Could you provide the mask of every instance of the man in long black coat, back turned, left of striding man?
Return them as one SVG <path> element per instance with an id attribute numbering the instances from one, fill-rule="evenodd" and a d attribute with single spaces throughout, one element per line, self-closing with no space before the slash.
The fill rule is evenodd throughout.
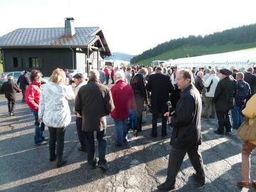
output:
<path id="1" fill-rule="evenodd" d="M 171 85 L 169 75 L 162 73 L 162 68 L 158 67 L 156 73 L 149 76 L 149 82 L 146 84 L 146 90 L 151 92 L 151 113 L 152 113 L 152 131 L 151 136 L 157 137 L 157 118 L 158 114 L 161 113 L 162 117 L 162 128 L 161 136 L 165 137 L 167 117 L 164 117 L 164 113 L 168 111 L 166 102 L 169 101 L 169 93 L 174 90 L 174 86 Z"/>

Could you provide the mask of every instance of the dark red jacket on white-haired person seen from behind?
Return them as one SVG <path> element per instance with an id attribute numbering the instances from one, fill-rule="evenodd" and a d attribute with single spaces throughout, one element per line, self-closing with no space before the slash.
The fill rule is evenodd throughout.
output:
<path id="1" fill-rule="evenodd" d="M 113 119 L 128 119 L 129 110 L 136 110 L 132 87 L 124 80 L 118 80 L 111 88 L 114 101 L 114 110 L 111 112 Z"/>

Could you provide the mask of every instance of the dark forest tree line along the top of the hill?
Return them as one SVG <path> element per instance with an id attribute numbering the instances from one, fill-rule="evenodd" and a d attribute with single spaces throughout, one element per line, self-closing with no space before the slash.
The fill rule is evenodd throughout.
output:
<path id="1" fill-rule="evenodd" d="M 134 56 L 130 63 L 136 63 L 140 60 L 153 58 L 161 55 L 169 50 L 175 50 L 181 46 L 211 46 L 211 45 L 225 45 L 228 43 L 241 44 L 253 43 L 256 41 L 256 23 L 248 26 L 240 26 L 238 28 L 231 28 L 222 32 L 215 32 L 206 36 L 188 36 L 187 38 L 177 38 L 158 46 L 145 50 L 142 54 Z M 193 55 L 198 56 L 198 55 Z"/>

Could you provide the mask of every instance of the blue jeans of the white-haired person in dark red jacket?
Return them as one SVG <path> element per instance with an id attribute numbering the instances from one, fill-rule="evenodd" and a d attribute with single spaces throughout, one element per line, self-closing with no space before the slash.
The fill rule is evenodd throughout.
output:
<path id="1" fill-rule="evenodd" d="M 127 119 L 114 119 L 114 138 L 117 145 L 127 142 Z"/>

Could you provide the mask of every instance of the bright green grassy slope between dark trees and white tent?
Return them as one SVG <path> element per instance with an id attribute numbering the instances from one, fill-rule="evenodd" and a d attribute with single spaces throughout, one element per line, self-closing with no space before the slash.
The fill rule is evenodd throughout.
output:
<path id="1" fill-rule="evenodd" d="M 199 56 L 199 55 L 210 55 L 215 53 L 225 53 L 234 50 L 243 50 L 248 48 L 255 48 L 255 43 L 245 43 L 245 44 L 226 44 L 223 46 L 182 46 L 181 48 L 177 48 L 175 50 L 169 50 L 161 55 L 157 55 L 154 58 L 149 58 L 145 60 L 141 60 L 137 63 L 137 65 L 151 65 L 152 60 L 169 60 L 176 58 L 185 58 L 186 55 Z"/>

